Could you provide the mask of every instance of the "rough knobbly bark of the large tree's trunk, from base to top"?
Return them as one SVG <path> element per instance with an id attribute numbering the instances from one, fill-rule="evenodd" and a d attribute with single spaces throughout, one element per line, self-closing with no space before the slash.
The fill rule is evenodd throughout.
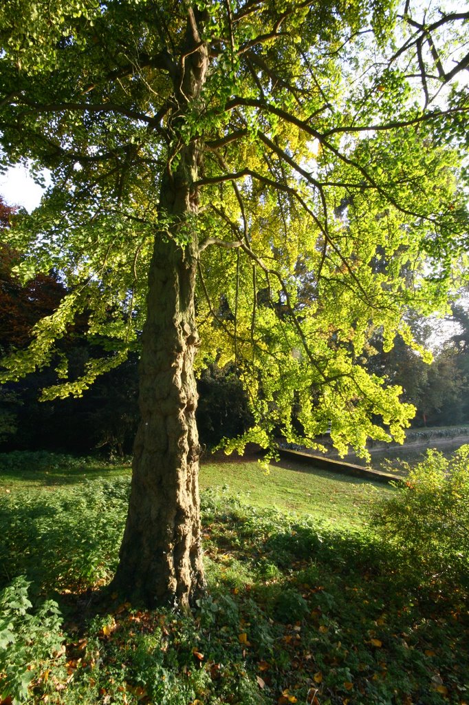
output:
<path id="1" fill-rule="evenodd" d="M 174 72 L 173 125 L 204 85 L 208 54 L 189 11 L 180 67 Z M 199 441 L 193 363 L 196 233 L 193 187 L 201 150 L 194 139 L 177 146 L 162 180 L 160 210 L 170 226 L 156 233 L 142 336 L 139 407 L 127 524 L 113 588 L 146 605 L 188 608 L 204 589 L 199 517 Z M 184 229 L 184 231 L 182 231 Z M 190 235 L 187 245 L 181 235 Z"/>

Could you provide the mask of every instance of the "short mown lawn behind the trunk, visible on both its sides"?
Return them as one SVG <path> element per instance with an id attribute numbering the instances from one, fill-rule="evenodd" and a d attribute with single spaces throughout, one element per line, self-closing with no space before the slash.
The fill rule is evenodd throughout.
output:
<path id="1" fill-rule="evenodd" d="M 52 453 L 0 455 L 0 492 L 40 487 L 73 486 L 99 477 L 130 476 L 129 463 L 96 458 L 71 458 Z M 226 496 L 259 508 L 277 508 L 309 514 L 329 522 L 360 525 L 373 495 L 392 491 L 389 486 L 347 477 L 327 470 L 308 470 L 299 463 L 270 465 L 265 474 L 258 462 L 213 462 L 201 465 L 201 489 L 215 489 Z"/>

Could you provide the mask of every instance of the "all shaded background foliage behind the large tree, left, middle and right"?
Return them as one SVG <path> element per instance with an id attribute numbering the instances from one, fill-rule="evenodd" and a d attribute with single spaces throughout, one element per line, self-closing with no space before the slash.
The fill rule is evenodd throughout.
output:
<path id="1" fill-rule="evenodd" d="M 5 244 L 15 210 L 0 197 L 4 245 L 0 254 L 0 347 L 22 348 L 30 341 L 30 329 L 44 314 L 51 314 L 66 293 L 57 272 L 39 275 L 22 285 L 13 267 L 21 257 Z M 403 389 L 401 397 L 416 408 L 412 425 L 454 425 L 469 422 L 469 326 L 467 313 L 454 305 L 453 321 L 459 327 L 432 363 L 408 348 L 401 336 L 387 353 L 382 336 L 375 335 L 370 354 L 370 372 L 387 378 Z M 432 334 L 425 319 L 411 319 L 415 338 L 428 344 Z M 85 321 L 70 326 L 56 353 L 65 355 L 69 374 L 77 379 L 90 357 L 102 355 L 101 338 L 87 335 Z M 39 449 L 89 453 L 94 449 L 111 455 L 130 453 L 138 421 L 136 355 L 101 376 L 80 398 L 39 402 L 41 390 L 57 384 L 54 362 L 44 370 L 18 382 L 4 384 L 0 391 L 0 442 L 4 450 Z M 58 359 L 56 360 L 58 364 Z M 232 365 L 222 370 L 211 364 L 200 372 L 197 424 L 201 444 L 213 447 L 224 437 L 233 439 L 249 427 L 248 399 Z"/>

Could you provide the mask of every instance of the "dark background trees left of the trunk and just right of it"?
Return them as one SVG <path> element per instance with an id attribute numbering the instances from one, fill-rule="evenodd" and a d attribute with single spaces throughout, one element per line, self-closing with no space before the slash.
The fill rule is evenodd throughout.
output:
<path id="1" fill-rule="evenodd" d="M 16 209 L 0 197 L 0 347 L 3 353 L 27 347 L 31 329 L 56 311 L 66 289 L 56 272 L 38 274 L 22 283 L 15 275 L 21 256 L 6 244 Z M 89 453 L 96 448 L 111 455 L 132 450 L 138 421 L 137 353 L 108 374 L 100 376 L 80 398 L 38 401 L 43 388 L 58 383 L 54 367 L 63 366 L 77 379 L 92 357 L 103 356 L 106 341 L 86 335 L 86 317 L 69 326 L 56 345 L 56 359 L 26 379 L 0 389 L 0 448 L 3 450 L 60 450 Z M 62 355 L 62 358 L 58 357 Z M 235 370 L 216 365 L 201 373 L 197 383 L 201 403 L 197 410 L 203 446 L 215 446 L 223 437 L 233 438 L 249 427 L 246 396 Z"/>

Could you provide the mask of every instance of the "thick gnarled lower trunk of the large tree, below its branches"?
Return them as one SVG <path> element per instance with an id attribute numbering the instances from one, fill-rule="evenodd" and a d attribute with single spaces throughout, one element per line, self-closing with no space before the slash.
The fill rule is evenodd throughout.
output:
<path id="1" fill-rule="evenodd" d="M 193 372 L 195 274 L 189 248 L 156 239 L 140 363 L 141 422 L 114 583 L 149 606 L 187 608 L 204 586 Z"/>

